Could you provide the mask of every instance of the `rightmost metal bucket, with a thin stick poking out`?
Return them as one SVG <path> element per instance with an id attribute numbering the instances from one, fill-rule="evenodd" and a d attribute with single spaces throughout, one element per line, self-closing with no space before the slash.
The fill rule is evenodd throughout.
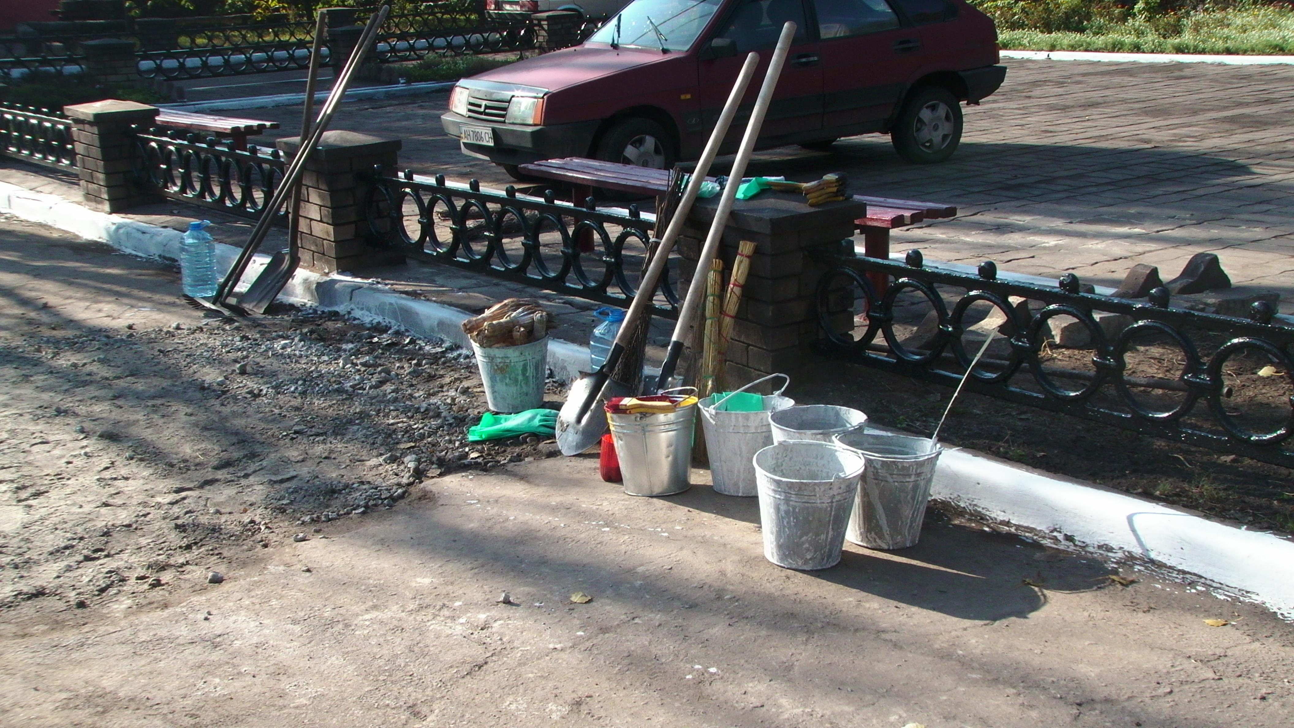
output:
<path id="1" fill-rule="evenodd" d="M 929 438 L 862 430 L 836 435 L 836 443 L 867 461 L 846 538 L 867 548 L 916 545 L 943 448 Z"/>

